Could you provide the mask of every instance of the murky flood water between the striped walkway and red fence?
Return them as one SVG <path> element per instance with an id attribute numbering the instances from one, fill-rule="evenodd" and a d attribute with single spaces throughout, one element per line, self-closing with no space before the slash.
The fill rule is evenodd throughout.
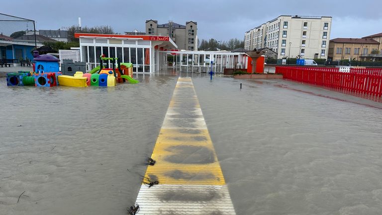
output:
<path id="1" fill-rule="evenodd" d="M 381 104 L 283 80 L 193 83 L 238 215 L 381 214 Z"/>

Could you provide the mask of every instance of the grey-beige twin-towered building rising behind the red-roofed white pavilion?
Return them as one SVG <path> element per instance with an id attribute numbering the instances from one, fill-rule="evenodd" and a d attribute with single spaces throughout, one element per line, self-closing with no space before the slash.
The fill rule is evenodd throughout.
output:
<path id="1" fill-rule="evenodd" d="M 197 23 L 186 22 L 186 25 L 169 21 L 158 24 L 157 20 L 146 20 L 146 35 L 170 36 L 178 49 L 197 51 Z"/>

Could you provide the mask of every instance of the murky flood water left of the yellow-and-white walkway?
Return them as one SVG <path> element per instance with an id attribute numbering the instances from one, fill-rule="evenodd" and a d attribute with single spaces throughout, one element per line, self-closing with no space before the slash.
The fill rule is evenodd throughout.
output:
<path id="1" fill-rule="evenodd" d="M 0 79 L 0 214 L 125 215 L 177 81 L 137 79 L 115 88 Z"/>

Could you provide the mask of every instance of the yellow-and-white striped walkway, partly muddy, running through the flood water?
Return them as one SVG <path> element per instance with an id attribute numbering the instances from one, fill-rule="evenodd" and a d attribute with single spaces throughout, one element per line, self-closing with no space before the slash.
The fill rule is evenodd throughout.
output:
<path id="1" fill-rule="evenodd" d="M 179 78 L 137 197 L 139 215 L 235 215 L 191 78 Z"/>

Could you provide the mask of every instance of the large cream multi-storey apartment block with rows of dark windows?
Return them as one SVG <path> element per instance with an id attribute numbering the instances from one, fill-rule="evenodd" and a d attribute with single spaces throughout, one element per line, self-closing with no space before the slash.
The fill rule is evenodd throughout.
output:
<path id="1" fill-rule="evenodd" d="M 332 17 L 281 15 L 244 35 L 244 48 L 269 48 L 278 58 L 327 59 Z"/>

